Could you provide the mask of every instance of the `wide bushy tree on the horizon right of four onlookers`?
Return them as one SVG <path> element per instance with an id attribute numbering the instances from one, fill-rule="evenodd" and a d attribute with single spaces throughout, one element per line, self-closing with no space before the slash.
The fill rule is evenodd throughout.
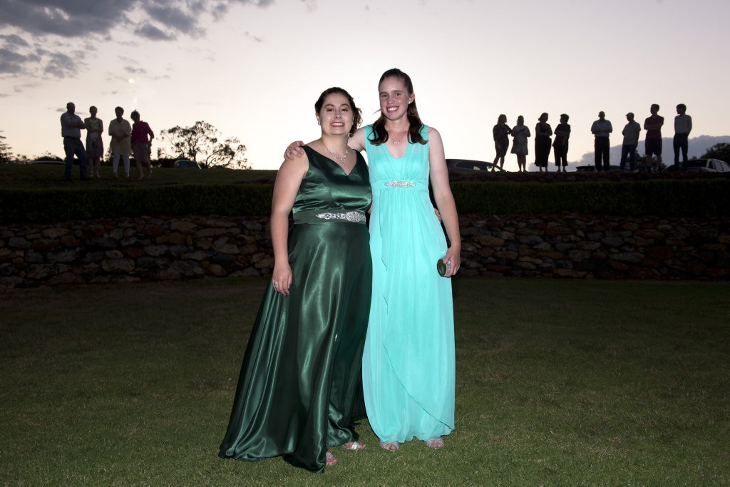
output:
<path id="1" fill-rule="evenodd" d="M 245 158 L 246 146 L 236 137 L 220 139 L 220 131 L 210 123 L 199 121 L 191 127 L 174 126 L 163 130 L 161 139 L 172 146 L 172 156 L 196 161 L 202 167 L 250 169 Z M 162 156 L 167 153 L 164 148 Z"/>

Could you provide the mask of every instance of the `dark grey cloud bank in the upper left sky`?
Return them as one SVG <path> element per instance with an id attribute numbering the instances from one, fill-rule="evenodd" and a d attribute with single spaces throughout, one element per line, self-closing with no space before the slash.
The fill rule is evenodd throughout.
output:
<path id="1" fill-rule="evenodd" d="M 307 0 L 313 1 L 313 0 Z M 67 77 L 84 66 L 59 39 L 108 42 L 117 29 L 140 39 L 170 42 L 204 37 L 203 22 L 231 7 L 269 7 L 274 0 L 0 0 L 0 74 Z M 8 32 L 11 32 L 8 34 Z M 257 39 L 258 40 L 258 39 Z M 96 47 L 87 47 L 96 50 Z M 74 53 L 74 57 L 77 53 Z"/>

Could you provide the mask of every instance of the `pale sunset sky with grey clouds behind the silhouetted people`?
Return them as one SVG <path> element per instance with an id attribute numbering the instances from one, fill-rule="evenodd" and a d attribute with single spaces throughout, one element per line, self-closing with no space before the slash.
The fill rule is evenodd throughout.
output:
<path id="1" fill-rule="evenodd" d="M 572 165 L 592 157 L 601 110 L 612 145 L 626 112 L 642 122 L 652 103 L 665 137 L 677 103 L 692 137 L 730 134 L 728 0 L 0 0 L 0 12 L 0 131 L 28 157 L 63 156 L 58 118 L 74 101 L 106 126 L 117 105 L 155 132 L 204 120 L 275 169 L 288 142 L 319 136 L 326 88 L 372 122 L 391 67 L 411 75 L 450 158 L 491 161 L 500 113 L 531 130 L 541 112 L 553 129 L 569 114 Z"/>

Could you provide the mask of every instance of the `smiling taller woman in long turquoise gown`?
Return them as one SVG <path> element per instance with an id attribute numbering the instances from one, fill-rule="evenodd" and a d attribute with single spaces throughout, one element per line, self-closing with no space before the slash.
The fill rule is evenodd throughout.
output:
<path id="1" fill-rule="evenodd" d="M 383 448 L 396 450 L 413 437 L 442 448 L 442 436 L 454 429 L 453 301 L 445 277 L 461 265 L 458 215 L 441 137 L 421 123 L 410 77 L 391 69 L 378 90 L 380 118 L 350 142 L 364 143 L 373 196 L 365 405 Z M 439 259 L 447 266 L 445 277 L 437 272 Z"/>

